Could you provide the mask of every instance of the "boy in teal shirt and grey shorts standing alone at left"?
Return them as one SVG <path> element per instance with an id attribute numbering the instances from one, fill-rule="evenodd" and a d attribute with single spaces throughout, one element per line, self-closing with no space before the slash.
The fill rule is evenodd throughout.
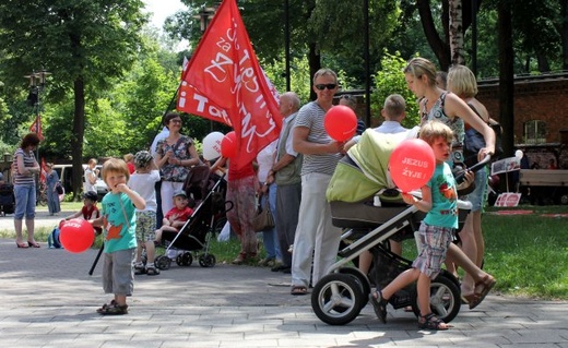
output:
<path id="1" fill-rule="evenodd" d="M 126 161 L 110 158 L 103 165 L 103 180 L 109 192 L 103 197 L 102 216 L 91 220 L 104 228 L 103 289 L 114 293 L 109 303 L 97 309 L 103 315 L 128 314 L 127 296 L 132 295 L 134 275 L 132 259 L 137 248 L 135 208 L 144 209 L 146 203 L 127 182 L 130 171 Z"/>

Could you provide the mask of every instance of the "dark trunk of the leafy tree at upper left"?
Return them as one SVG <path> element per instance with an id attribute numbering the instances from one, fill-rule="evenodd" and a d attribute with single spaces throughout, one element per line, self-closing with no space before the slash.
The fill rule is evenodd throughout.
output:
<path id="1" fill-rule="evenodd" d="M 82 76 L 73 82 L 75 109 L 73 112 L 73 196 L 79 199 L 83 190 L 83 136 L 85 135 L 85 83 Z"/>

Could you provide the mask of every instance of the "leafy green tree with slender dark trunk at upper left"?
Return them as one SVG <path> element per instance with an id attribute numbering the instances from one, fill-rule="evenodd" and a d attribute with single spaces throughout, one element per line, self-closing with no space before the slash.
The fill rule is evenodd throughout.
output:
<path id="1" fill-rule="evenodd" d="M 109 86 L 132 63 L 146 22 L 141 0 L 36 0 L 0 2 L 0 72 L 3 81 L 24 88 L 22 77 L 36 69 L 54 73 L 49 97 L 73 93 L 70 139 L 75 195 L 88 94 Z M 19 81 L 20 80 L 20 81 Z"/>

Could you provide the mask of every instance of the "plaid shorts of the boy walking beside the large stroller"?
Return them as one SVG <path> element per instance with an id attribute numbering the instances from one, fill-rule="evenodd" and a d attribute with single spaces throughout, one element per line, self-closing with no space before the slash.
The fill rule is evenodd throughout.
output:
<path id="1" fill-rule="evenodd" d="M 417 238 L 418 256 L 412 263 L 412 267 L 434 279 L 446 261 L 446 253 L 453 239 L 453 228 L 431 226 L 423 221 Z"/>

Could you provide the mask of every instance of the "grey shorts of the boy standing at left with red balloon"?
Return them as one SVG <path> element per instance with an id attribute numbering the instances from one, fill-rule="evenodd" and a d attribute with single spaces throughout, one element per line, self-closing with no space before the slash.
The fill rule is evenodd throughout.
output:
<path id="1" fill-rule="evenodd" d="M 105 253 L 103 263 L 103 289 L 105 293 L 132 296 L 134 272 L 132 259 L 134 248 Z"/>

